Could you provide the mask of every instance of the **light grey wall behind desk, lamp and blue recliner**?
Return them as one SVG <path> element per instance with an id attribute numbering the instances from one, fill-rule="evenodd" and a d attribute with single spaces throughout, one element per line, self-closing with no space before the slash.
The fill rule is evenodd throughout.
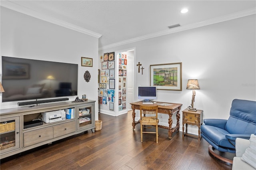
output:
<path id="1" fill-rule="evenodd" d="M 194 107 L 204 110 L 203 119 L 228 119 L 233 99 L 256 101 L 255 21 L 256 15 L 246 16 L 104 49 L 99 56 L 136 47 L 134 70 L 138 69 L 138 62 L 145 69 L 143 75 L 135 71 L 135 88 L 150 85 L 151 64 L 182 62 L 182 91 L 158 90 L 157 101 L 182 103 L 182 110 L 186 109 L 192 99 L 192 90 L 186 89 L 187 81 L 198 79 L 200 90 L 196 90 Z M 138 101 L 136 96 L 137 89 L 134 100 Z M 168 115 L 163 118 L 160 124 L 167 125 Z M 188 132 L 197 134 L 197 130 L 189 126 Z"/>

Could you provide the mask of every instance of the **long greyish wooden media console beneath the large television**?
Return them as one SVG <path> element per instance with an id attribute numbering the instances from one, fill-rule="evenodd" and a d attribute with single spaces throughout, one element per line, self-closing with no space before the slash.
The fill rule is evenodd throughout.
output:
<path id="1" fill-rule="evenodd" d="M 70 109 L 74 116 L 70 119 L 43 122 L 35 127 L 24 125 L 42 113 Z M 48 122 L 48 121 L 46 121 Z M 0 158 L 6 158 L 53 141 L 92 130 L 95 128 L 95 101 L 61 102 L 0 110 Z"/>

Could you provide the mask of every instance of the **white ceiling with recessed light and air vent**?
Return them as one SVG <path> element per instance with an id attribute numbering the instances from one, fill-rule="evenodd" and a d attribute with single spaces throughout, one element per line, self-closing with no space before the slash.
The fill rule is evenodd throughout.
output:
<path id="1" fill-rule="evenodd" d="M 100 37 L 99 48 L 170 34 L 174 24 L 181 25 L 177 32 L 256 11 L 255 0 L 1 0 L 1 6 L 91 31 Z"/>

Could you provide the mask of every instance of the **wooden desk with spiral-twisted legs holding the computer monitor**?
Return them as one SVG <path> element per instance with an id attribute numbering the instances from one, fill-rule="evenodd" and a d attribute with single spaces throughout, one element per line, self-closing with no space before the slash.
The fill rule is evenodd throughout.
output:
<path id="1" fill-rule="evenodd" d="M 157 103 L 166 103 L 166 102 L 157 102 Z M 150 104 L 150 105 L 157 105 L 157 103 L 155 104 Z M 169 119 L 168 119 L 168 123 L 169 123 L 169 127 L 166 126 L 162 126 L 162 125 L 158 125 L 158 127 L 160 128 L 165 128 L 168 129 L 168 138 L 172 138 L 172 133 L 175 132 L 176 130 L 179 131 L 180 129 L 180 109 L 182 104 L 178 104 L 178 103 L 170 103 L 171 105 L 169 106 L 161 106 L 158 105 L 158 113 L 164 113 L 169 115 Z M 142 101 L 138 101 L 138 102 L 134 102 L 134 103 L 130 103 L 130 105 L 132 105 L 132 129 L 135 128 L 135 125 L 137 125 L 138 123 L 140 123 L 139 121 L 135 122 L 135 110 L 140 110 L 140 105 L 142 105 Z M 149 105 L 149 104 L 145 104 L 145 105 Z M 174 113 L 177 112 L 176 118 L 177 118 L 177 124 L 176 127 L 172 128 L 172 115 Z"/>

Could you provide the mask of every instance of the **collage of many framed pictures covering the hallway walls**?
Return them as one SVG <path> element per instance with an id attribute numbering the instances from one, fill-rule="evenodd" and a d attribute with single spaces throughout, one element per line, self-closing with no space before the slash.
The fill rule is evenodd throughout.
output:
<path id="1" fill-rule="evenodd" d="M 126 65 L 127 55 L 118 53 L 118 68 L 115 68 L 115 53 L 104 53 L 100 57 L 100 83 L 98 91 L 98 103 L 109 105 L 109 110 L 114 111 L 115 86 L 118 83 L 118 110 L 126 109 Z M 115 71 L 118 70 L 118 79 Z M 118 81 L 118 82 L 116 82 Z"/>

